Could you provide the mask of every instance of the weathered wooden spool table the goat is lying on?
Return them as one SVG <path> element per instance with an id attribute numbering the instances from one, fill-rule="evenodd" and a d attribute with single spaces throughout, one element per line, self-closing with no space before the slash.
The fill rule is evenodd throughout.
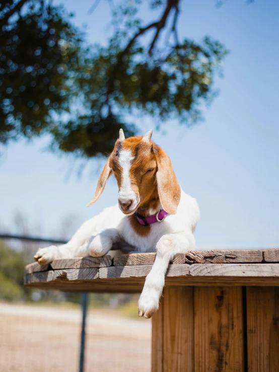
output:
<path id="1" fill-rule="evenodd" d="M 26 266 L 25 285 L 141 292 L 155 253 Z M 279 372 L 279 249 L 190 251 L 169 265 L 152 318 L 152 372 Z"/>

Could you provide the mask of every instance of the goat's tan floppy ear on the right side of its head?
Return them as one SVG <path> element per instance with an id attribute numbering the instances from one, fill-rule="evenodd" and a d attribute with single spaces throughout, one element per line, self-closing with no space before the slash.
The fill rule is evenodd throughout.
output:
<path id="1" fill-rule="evenodd" d="M 158 171 L 156 174 L 160 202 L 163 209 L 175 214 L 180 201 L 181 189 L 168 155 L 158 147 L 156 151 Z"/>

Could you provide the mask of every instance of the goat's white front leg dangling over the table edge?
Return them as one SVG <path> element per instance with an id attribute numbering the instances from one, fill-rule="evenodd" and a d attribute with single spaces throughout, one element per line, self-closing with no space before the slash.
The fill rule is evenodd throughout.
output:
<path id="1" fill-rule="evenodd" d="M 178 252 L 194 249 L 192 233 L 164 235 L 157 243 L 156 258 L 146 277 L 144 289 L 138 300 L 138 316 L 151 318 L 159 308 L 159 300 L 165 285 L 165 274 L 170 260 Z"/>

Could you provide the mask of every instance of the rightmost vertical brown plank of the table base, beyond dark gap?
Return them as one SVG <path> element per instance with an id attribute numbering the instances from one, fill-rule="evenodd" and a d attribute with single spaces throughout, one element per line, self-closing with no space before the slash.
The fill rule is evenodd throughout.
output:
<path id="1" fill-rule="evenodd" d="M 279 288 L 247 287 L 249 372 L 279 371 Z"/>

